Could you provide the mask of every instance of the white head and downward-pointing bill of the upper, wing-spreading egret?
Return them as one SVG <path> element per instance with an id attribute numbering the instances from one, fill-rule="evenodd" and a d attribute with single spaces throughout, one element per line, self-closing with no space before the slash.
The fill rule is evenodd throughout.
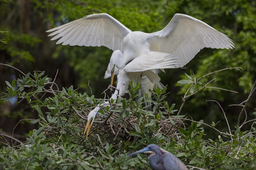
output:
<path id="1" fill-rule="evenodd" d="M 118 71 L 116 72 L 116 70 L 123 69 L 125 66 L 125 63 L 123 61 L 123 54 L 120 50 L 116 50 L 112 53 L 109 65 L 111 70 L 111 86 L 112 86 L 114 75 L 117 74 L 118 72 Z"/>

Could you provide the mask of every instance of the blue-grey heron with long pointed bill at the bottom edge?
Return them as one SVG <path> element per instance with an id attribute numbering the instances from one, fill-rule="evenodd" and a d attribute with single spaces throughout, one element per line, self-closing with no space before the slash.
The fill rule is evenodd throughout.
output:
<path id="1" fill-rule="evenodd" d="M 148 164 L 152 170 L 188 170 L 179 158 L 155 144 L 149 144 L 144 149 L 130 153 L 128 156 L 138 153 L 152 153 L 148 156 Z"/>

